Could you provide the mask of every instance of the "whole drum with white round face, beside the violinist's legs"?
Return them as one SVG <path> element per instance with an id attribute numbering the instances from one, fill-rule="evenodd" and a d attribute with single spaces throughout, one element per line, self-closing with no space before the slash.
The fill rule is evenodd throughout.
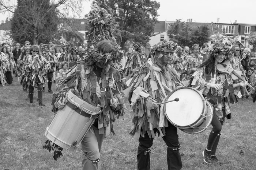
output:
<path id="1" fill-rule="evenodd" d="M 175 127 L 189 134 L 198 134 L 206 130 L 212 120 L 211 104 L 203 95 L 191 87 L 174 90 L 166 101 L 178 98 L 178 102 L 165 103 L 165 116 Z"/>

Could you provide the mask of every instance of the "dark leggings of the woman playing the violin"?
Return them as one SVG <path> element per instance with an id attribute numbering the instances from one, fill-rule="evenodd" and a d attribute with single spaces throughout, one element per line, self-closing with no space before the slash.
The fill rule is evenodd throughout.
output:
<path id="1" fill-rule="evenodd" d="M 219 143 L 221 129 L 224 123 L 225 115 L 226 115 L 224 108 L 222 109 L 222 112 L 223 112 L 224 118 L 221 118 L 221 119 L 218 118 L 215 111 L 213 112 L 213 117 L 211 121 L 212 130 L 208 137 L 208 143 L 207 143 L 207 149 L 211 150 L 211 155 L 215 155 L 215 152 Z"/>

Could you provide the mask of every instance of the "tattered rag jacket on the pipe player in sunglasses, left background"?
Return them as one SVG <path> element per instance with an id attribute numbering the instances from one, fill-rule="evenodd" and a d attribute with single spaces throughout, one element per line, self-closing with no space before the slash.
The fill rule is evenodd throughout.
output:
<path id="1" fill-rule="evenodd" d="M 25 59 L 25 63 L 24 63 L 24 67 L 25 67 L 25 71 L 24 71 L 24 80 L 23 82 L 27 82 L 28 85 L 33 86 L 33 87 L 37 87 L 37 83 L 42 83 L 45 84 L 45 70 L 46 70 L 46 66 L 47 66 L 47 61 L 39 56 L 39 59 L 41 60 L 43 67 L 40 66 L 40 64 L 38 62 L 34 62 L 34 64 L 29 67 L 29 65 L 32 63 L 33 61 L 33 56 L 28 55 Z"/>

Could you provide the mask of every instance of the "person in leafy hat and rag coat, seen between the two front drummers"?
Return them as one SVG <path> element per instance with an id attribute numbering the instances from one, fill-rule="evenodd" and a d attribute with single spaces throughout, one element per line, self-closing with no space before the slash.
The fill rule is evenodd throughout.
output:
<path id="1" fill-rule="evenodd" d="M 133 43 L 133 47 L 135 48 L 135 51 L 131 57 L 127 58 L 127 63 L 124 68 L 124 75 L 127 76 L 127 79 L 133 76 L 133 69 L 138 68 L 147 62 L 147 56 L 142 51 L 141 44 Z"/>

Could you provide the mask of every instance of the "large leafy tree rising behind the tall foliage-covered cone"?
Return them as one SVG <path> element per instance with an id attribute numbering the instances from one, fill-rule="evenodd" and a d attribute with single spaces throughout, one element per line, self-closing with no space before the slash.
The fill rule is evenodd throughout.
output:
<path id="1" fill-rule="evenodd" d="M 151 0 L 94 0 L 99 7 L 113 13 L 118 23 L 113 30 L 121 47 L 127 40 L 146 44 L 153 35 L 160 4 Z"/>

